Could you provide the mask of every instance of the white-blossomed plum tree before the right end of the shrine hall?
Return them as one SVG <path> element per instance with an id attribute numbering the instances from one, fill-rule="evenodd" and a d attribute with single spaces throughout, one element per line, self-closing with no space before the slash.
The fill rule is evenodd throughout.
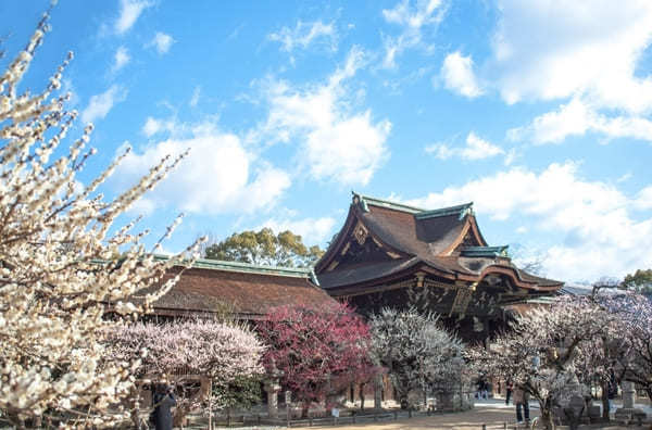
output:
<path id="1" fill-rule="evenodd" d="M 479 372 L 511 380 L 537 400 L 542 422 L 550 429 L 553 408 L 569 400 L 568 385 L 577 385 L 581 393 L 580 379 L 610 375 L 602 350 L 589 349 L 610 336 L 617 319 L 590 298 L 561 296 L 552 306 L 517 316 L 509 332 L 488 349 L 468 350 L 467 357 Z"/>

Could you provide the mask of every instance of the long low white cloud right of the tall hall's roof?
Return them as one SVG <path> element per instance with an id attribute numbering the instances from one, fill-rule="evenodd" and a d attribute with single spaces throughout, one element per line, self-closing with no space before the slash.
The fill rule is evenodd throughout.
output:
<path id="1" fill-rule="evenodd" d="M 565 235 L 546 250 L 549 276 L 595 280 L 652 265 L 652 254 L 642 251 L 652 246 L 652 217 L 629 216 L 631 207 L 647 207 L 649 192 L 627 198 L 610 184 L 582 179 L 577 164 L 567 162 L 539 174 L 512 168 L 409 203 L 441 207 L 474 201 L 478 214 L 493 219 L 531 217 L 536 232 Z"/>

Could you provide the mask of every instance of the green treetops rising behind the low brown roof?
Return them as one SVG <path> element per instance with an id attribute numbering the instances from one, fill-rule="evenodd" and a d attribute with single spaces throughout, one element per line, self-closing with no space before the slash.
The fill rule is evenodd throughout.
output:
<path id="1" fill-rule="evenodd" d="M 274 235 L 271 228 L 233 233 L 205 249 L 204 258 L 266 266 L 310 267 L 324 251 L 305 246 L 301 236 L 286 230 Z"/>

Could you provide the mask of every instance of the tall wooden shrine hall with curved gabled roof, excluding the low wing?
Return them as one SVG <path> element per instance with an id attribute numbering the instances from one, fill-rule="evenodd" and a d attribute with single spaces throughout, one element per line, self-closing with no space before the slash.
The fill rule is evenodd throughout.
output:
<path id="1" fill-rule="evenodd" d="M 314 269 L 322 289 L 362 314 L 415 306 L 440 314 L 465 341 L 485 340 L 516 304 L 563 286 L 516 267 L 506 248 L 487 244 L 473 203 L 426 211 L 353 193 Z"/>

